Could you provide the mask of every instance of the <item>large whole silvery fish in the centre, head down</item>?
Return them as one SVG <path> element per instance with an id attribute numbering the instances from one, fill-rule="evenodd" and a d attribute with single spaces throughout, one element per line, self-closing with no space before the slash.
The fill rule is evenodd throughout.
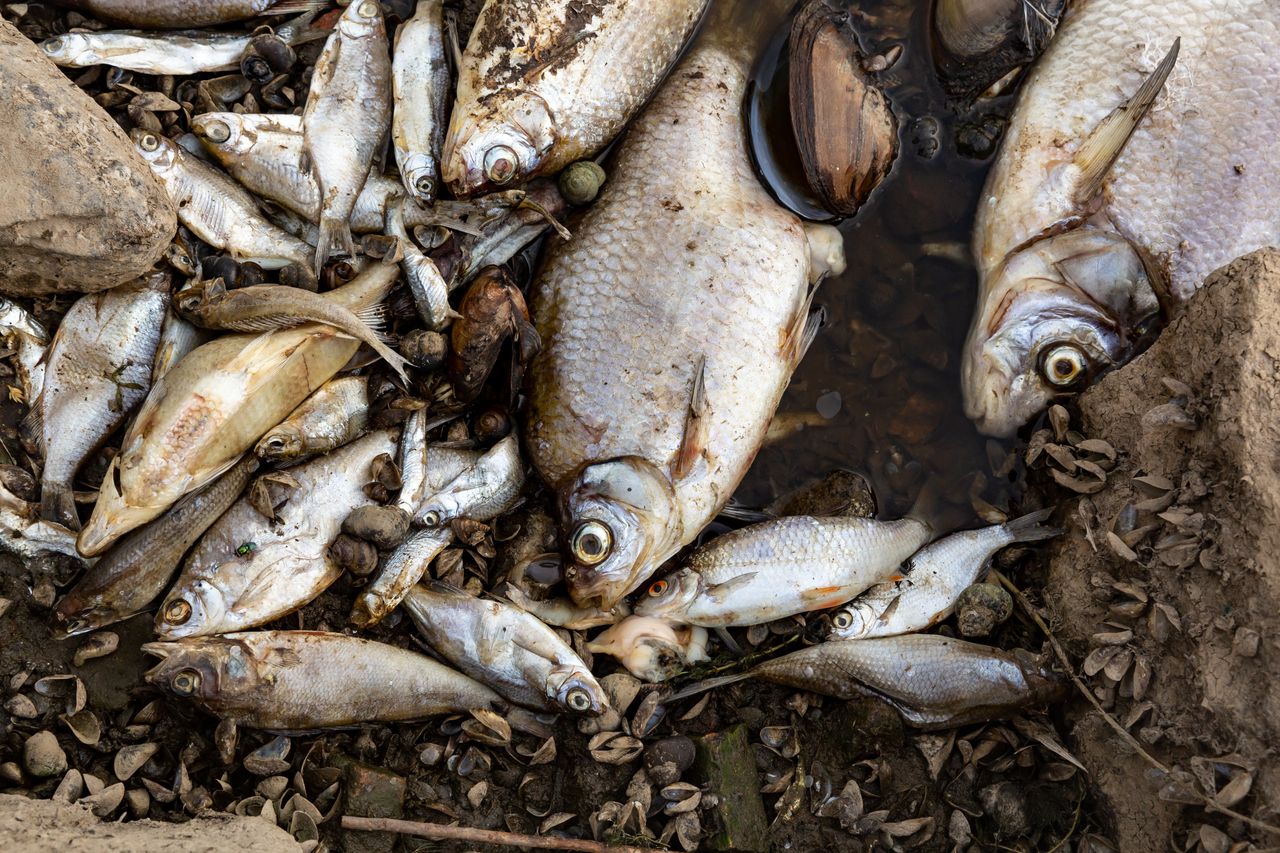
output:
<path id="1" fill-rule="evenodd" d="M 764 37 L 788 6 L 713 10 L 535 284 L 526 444 L 559 492 L 579 603 L 612 607 L 730 500 L 817 329 L 810 284 L 844 268 L 827 225 L 812 260 L 746 151 L 759 42 L 744 32 Z"/>

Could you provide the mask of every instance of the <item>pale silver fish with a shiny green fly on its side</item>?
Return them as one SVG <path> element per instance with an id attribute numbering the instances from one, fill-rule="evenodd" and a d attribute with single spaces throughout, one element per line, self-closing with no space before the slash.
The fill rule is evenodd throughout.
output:
<path id="1" fill-rule="evenodd" d="M 323 593 L 342 574 L 329 543 L 342 521 L 372 501 L 369 466 L 396 448 L 378 430 L 289 469 L 297 483 L 275 519 L 246 496 L 196 544 L 156 613 L 164 639 L 206 637 L 264 625 Z"/>

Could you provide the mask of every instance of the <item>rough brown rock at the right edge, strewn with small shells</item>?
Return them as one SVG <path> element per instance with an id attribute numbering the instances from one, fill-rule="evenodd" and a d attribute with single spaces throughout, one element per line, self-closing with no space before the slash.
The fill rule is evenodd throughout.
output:
<path id="1" fill-rule="evenodd" d="M 1178 383 L 1190 388 L 1185 401 Z M 1112 580 L 1142 587 L 1151 605 L 1132 617 L 1129 647 L 1151 662 L 1144 701 L 1153 708 L 1132 730 L 1183 770 L 1193 758 L 1235 753 L 1231 761 L 1256 774 L 1235 808 L 1274 822 L 1265 816 L 1280 813 L 1280 251 L 1254 252 L 1211 275 L 1155 346 L 1084 393 L 1079 409 L 1082 432 L 1120 456 L 1102 492 L 1066 506 L 1071 529 L 1051 546 L 1052 624 L 1084 654 L 1092 634 L 1116 630 L 1103 622 L 1125 619 L 1128 597 L 1111 597 Z M 1152 488 L 1158 479 L 1144 485 L 1139 475 L 1166 478 L 1175 493 L 1169 510 L 1147 503 L 1121 526 L 1156 525 L 1130 561 L 1108 547 L 1106 530 L 1128 505 L 1162 497 Z M 1094 510 L 1097 547 L 1080 520 Z M 1114 605 L 1121 610 L 1108 612 Z M 1172 607 L 1180 629 L 1170 628 L 1167 611 L 1153 613 L 1156 605 Z M 1125 684 L 1120 720 L 1140 710 Z M 1092 712 L 1071 745 L 1114 817 L 1120 849 L 1166 847 L 1179 807 L 1158 798 L 1164 781 Z M 1233 767 L 1224 765 L 1219 785 Z M 1187 818 L 1204 812 L 1188 807 Z"/>

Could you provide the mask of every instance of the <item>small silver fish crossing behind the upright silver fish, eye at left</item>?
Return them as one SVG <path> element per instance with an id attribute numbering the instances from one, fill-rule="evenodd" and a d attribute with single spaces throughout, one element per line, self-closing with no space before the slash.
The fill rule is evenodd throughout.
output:
<path id="1" fill-rule="evenodd" d="M 320 222 L 320 184 L 302 168 L 302 118 L 289 114 L 205 113 L 191 120 L 191 132 L 237 181 L 310 223 Z M 376 168 L 369 172 L 351 211 L 357 234 L 380 233 L 387 211 L 402 204 L 404 188 Z M 417 205 L 403 206 L 407 223 L 431 216 Z"/>

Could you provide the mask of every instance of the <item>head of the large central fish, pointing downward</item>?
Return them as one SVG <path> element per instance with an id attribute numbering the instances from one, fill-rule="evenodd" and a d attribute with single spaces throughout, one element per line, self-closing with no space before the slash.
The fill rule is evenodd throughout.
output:
<path id="1" fill-rule="evenodd" d="M 671 480 L 634 456 L 584 469 L 563 516 L 564 580 L 580 607 L 611 610 L 680 547 Z"/>

